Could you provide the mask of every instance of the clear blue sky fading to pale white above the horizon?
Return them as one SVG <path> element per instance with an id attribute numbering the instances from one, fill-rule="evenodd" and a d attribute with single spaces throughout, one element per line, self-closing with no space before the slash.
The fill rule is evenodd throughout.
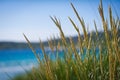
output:
<path id="1" fill-rule="evenodd" d="M 77 35 L 68 16 L 75 21 L 82 33 L 70 2 L 85 19 L 89 31 L 94 30 L 93 20 L 96 20 L 98 29 L 102 30 L 98 13 L 99 0 L 0 0 L 0 41 L 24 42 L 23 33 L 32 42 L 38 42 L 39 39 L 44 41 L 53 35 L 58 36 L 59 30 L 50 16 L 60 19 L 66 36 Z M 113 15 L 117 12 L 120 16 L 120 0 L 103 0 L 105 16 L 108 17 L 109 4 L 113 8 Z"/>

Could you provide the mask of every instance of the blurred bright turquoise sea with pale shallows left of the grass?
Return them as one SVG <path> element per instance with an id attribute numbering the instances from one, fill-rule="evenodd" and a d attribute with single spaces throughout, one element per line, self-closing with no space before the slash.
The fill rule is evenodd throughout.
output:
<path id="1" fill-rule="evenodd" d="M 41 49 L 36 49 L 40 59 L 43 59 Z M 55 59 L 56 52 L 46 49 L 46 53 L 51 59 Z M 59 56 L 63 57 L 63 51 L 59 51 Z M 38 66 L 38 61 L 31 49 L 3 49 L 0 50 L 0 80 L 11 80 L 16 75 L 23 74 Z"/>

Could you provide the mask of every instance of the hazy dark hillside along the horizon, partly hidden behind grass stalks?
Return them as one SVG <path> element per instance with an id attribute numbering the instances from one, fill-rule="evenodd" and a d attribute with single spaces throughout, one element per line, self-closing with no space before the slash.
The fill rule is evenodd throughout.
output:
<path id="1" fill-rule="evenodd" d="M 109 31 L 109 35 L 110 34 L 110 31 Z M 90 33 L 88 34 L 88 36 L 90 36 Z M 92 39 L 93 41 L 96 41 L 94 40 L 95 39 L 95 36 L 96 36 L 96 33 L 93 32 L 93 36 L 92 36 Z M 105 40 L 104 38 L 104 33 L 103 32 L 98 32 L 98 36 L 101 40 Z M 83 38 L 83 35 L 81 35 L 81 37 Z M 118 31 L 118 37 L 120 37 L 120 29 Z M 75 44 L 77 44 L 78 42 L 78 36 L 73 36 L 73 41 Z M 66 38 L 67 42 L 69 42 L 69 38 L 67 37 Z M 56 43 L 58 43 L 60 41 L 60 39 L 55 39 L 55 40 L 52 40 L 52 41 L 55 41 Z M 48 42 L 45 41 L 43 42 L 44 46 L 48 46 Z M 33 47 L 34 48 L 39 48 L 39 43 L 32 43 Z M 23 48 L 29 48 L 28 44 L 27 43 L 16 43 L 16 42 L 0 42 L 0 49 L 23 49 Z"/>

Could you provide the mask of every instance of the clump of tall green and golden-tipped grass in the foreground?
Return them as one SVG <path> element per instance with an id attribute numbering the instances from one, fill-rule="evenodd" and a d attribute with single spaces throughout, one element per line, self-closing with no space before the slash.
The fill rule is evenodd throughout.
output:
<path id="1" fill-rule="evenodd" d="M 56 56 L 55 60 L 51 60 L 46 54 L 44 45 L 40 41 L 40 48 L 44 55 L 44 59 L 36 54 L 30 41 L 24 35 L 30 48 L 35 54 L 39 62 L 39 67 L 32 69 L 25 76 L 15 77 L 14 80 L 119 80 L 120 79 L 120 38 L 119 27 L 120 20 L 112 16 L 111 7 L 109 7 L 109 22 L 104 17 L 102 0 L 99 5 L 99 14 L 101 16 L 102 26 L 104 29 L 105 39 L 101 39 L 98 35 L 97 25 L 94 21 L 96 35 L 93 33 L 88 35 L 84 20 L 79 16 L 77 10 L 71 4 L 73 11 L 80 22 L 84 37 L 81 37 L 80 30 L 69 17 L 70 22 L 78 33 L 78 47 L 76 47 L 72 37 L 66 41 L 62 31 L 60 21 L 56 17 L 51 17 L 52 21 L 60 31 L 61 41 L 56 43 L 55 39 L 48 40 L 51 51 L 56 51 L 53 55 L 59 55 L 59 50 L 63 49 L 64 58 Z M 110 23 L 110 25 L 109 25 Z M 110 30 L 108 27 L 110 26 Z M 96 49 L 98 48 L 98 56 Z M 78 52 L 79 50 L 79 52 Z M 80 53 L 80 54 L 79 54 Z M 84 58 L 82 58 L 84 56 Z"/>

